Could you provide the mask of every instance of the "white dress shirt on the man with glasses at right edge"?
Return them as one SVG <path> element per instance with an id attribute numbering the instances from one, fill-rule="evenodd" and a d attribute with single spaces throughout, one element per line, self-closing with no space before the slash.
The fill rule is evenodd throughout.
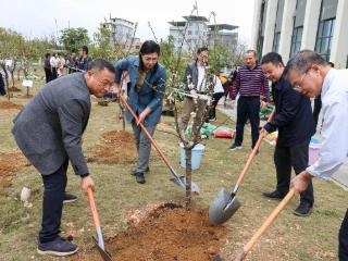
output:
<path id="1" fill-rule="evenodd" d="M 323 144 L 318 161 L 307 171 L 326 179 L 348 156 L 348 70 L 331 69 L 326 74 L 322 88 L 322 110 Z"/>

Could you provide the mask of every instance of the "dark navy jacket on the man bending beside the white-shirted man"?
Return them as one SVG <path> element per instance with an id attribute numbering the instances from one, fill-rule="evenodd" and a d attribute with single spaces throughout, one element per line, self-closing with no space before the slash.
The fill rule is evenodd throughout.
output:
<path id="1" fill-rule="evenodd" d="M 294 90 L 283 77 L 274 86 L 275 116 L 264 125 L 268 133 L 278 129 L 278 145 L 291 147 L 310 140 L 315 133 L 311 101 Z"/>

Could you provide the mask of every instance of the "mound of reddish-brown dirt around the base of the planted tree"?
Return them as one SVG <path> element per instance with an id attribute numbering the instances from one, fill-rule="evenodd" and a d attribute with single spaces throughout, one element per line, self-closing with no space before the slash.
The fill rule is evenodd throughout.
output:
<path id="1" fill-rule="evenodd" d="M 219 253 L 226 234 L 226 227 L 210 224 L 208 210 L 187 211 L 166 203 L 107 240 L 105 248 L 115 261 L 210 261 Z M 100 257 L 95 251 L 73 260 L 97 261 Z"/>

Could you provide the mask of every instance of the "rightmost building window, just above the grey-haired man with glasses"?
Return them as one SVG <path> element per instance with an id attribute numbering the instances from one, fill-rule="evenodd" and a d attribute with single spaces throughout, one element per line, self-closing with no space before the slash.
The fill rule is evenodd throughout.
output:
<path id="1" fill-rule="evenodd" d="M 335 18 L 321 21 L 318 28 L 315 52 L 321 54 L 326 61 L 330 60 L 334 28 Z"/>

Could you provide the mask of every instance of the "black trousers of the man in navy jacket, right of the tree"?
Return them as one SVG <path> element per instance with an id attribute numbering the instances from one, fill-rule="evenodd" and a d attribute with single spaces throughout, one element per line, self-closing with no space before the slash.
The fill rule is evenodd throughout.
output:
<path id="1" fill-rule="evenodd" d="M 285 147 L 276 145 L 274 151 L 274 164 L 276 169 L 276 190 L 286 195 L 289 191 L 291 167 L 294 167 L 296 175 L 301 173 L 308 166 L 308 147 L 310 140 Z M 301 192 L 301 202 L 308 202 L 311 206 L 314 203 L 313 184 L 309 184 L 308 188 Z"/>

